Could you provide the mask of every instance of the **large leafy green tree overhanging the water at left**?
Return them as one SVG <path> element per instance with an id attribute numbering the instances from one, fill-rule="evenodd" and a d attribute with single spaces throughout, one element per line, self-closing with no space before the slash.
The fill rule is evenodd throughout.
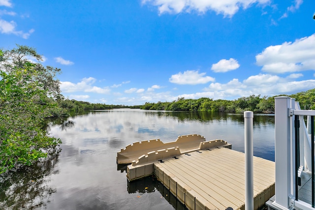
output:
<path id="1" fill-rule="evenodd" d="M 63 113 L 53 98 L 60 92 L 59 81 L 53 79 L 58 70 L 31 63 L 26 55 L 41 59 L 26 46 L 2 53 L 0 174 L 19 165 L 31 165 L 61 143 L 41 129 L 44 118 Z"/>

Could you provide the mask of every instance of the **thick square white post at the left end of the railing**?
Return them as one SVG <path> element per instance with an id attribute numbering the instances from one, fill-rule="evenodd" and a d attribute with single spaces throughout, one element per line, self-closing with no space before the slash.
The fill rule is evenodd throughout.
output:
<path id="1" fill-rule="evenodd" d="M 275 163 L 276 163 L 276 206 L 289 208 L 291 190 L 291 100 L 287 96 L 275 97 Z"/>

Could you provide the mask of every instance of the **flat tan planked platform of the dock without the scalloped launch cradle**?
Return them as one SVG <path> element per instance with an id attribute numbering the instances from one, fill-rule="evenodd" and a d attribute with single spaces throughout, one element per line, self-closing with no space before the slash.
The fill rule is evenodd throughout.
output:
<path id="1" fill-rule="evenodd" d="M 253 165 L 257 210 L 275 193 L 275 163 L 254 157 Z M 189 209 L 245 209 L 244 153 L 227 148 L 192 152 L 154 163 L 154 173 Z"/>

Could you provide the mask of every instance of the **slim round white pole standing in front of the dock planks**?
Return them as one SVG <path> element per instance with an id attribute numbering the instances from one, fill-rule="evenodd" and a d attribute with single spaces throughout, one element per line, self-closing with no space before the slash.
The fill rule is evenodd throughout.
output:
<path id="1" fill-rule="evenodd" d="M 252 145 L 252 127 L 253 127 L 253 112 L 244 112 L 245 125 L 245 209 L 254 209 L 253 195 L 253 145 Z"/>

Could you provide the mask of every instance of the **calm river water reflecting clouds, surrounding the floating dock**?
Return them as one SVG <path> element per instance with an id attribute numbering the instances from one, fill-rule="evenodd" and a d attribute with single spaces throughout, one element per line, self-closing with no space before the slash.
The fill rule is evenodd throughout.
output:
<path id="1" fill-rule="evenodd" d="M 244 152 L 242 114 L 114 109 L 51 123 L 49 132 L 62 139 L 61 152 L 0 177 L 0 209 L 184 210 L 154 177 L 128 183 L 117 152 L 135 141 L 192 133 Z M 254 156 L 274 161 L 273 115 L 254 116 L 253 146 Z"/>

